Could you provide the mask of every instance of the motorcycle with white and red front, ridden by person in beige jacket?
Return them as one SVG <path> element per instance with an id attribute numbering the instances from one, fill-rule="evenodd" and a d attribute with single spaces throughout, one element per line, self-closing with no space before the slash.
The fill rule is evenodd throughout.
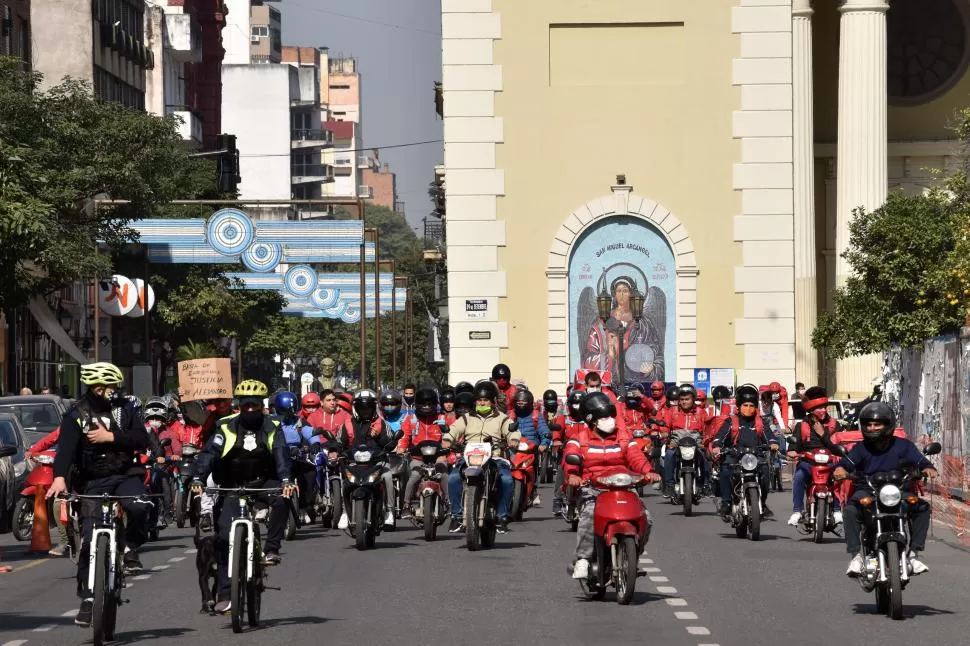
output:
<path id="1" fill-rule="evenodd" d="M 499 473 L 488 442 L 469 442 L 464 451 L 465 543 L 472 552 L 495 544 L 498 532 Z"/>

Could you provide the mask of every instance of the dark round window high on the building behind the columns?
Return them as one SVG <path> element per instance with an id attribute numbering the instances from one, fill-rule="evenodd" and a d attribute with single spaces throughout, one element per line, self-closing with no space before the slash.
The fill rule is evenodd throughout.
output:
<path id="1" fill-rule="evenodd" d="M 891 103 L 926 103 L 963 77 L 970 62 L 964 0 L 893 0 L 886 20 Z"/>

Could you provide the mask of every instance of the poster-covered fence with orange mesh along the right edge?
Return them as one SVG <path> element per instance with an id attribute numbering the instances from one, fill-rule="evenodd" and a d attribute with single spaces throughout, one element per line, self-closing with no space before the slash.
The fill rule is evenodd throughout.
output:
<path id="1" fill-rule="evenodd" d="M 940 472 L 928 488 L 933 536 L 970 548 L 970 328 L 886 352 L 883 382 L 910 439 L 943 445 L 930 458 Z"/>

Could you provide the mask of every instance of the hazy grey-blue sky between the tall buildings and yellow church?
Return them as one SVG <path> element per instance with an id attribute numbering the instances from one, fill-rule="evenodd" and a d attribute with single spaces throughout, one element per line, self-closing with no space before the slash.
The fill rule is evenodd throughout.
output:
<path id="1" fill-rule="evenodd" d="M 280 0 L 283 44 L 329 47 L 357 59 L 363 88 L 364 147 L 440 140 L 434 83 L 441 80 L 440 0 Z M 421 227 L 441 143 L 380 151 L 397 175 L 397 199 Z M 423 235 L 423 230 L 419 233 Z"/>

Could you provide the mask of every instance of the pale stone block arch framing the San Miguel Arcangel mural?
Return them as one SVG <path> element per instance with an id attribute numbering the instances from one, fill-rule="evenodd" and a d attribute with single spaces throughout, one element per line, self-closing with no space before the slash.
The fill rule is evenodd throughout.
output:
<path id="1" fill-rule="evenodd" d="M 667 381 L 693 381 L 697 366 L 697 256 L 687 227 L 649 198 L 633 194 L 633 187 L 613 186 L 612 194 L 590 200 L 573 211 L 556 232 L 546 261 L 549 321 L 550 388 L 563 392 L 569 374 L 569 261 L 582 234 L 604 218 L 629 215 L 651 224 L 673 251 L 676 266 L 675 352 L 677 374 Z"/>

